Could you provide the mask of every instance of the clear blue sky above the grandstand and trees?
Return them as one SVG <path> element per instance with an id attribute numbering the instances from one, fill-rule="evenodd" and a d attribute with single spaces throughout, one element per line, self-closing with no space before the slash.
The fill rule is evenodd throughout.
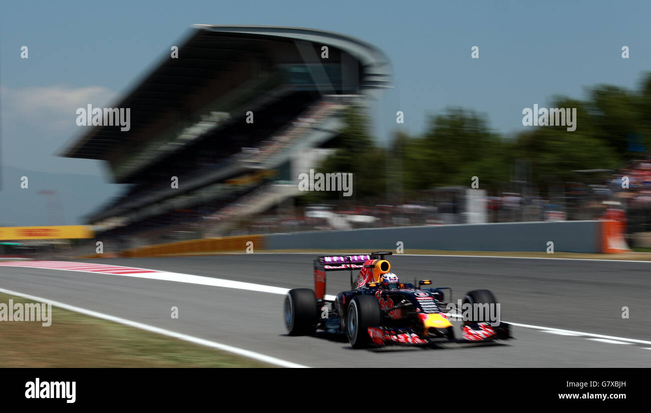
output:
<path id="1" fill-rule="evenodd" d="M 569 4 L 568 4 L 569 3 Z M 179 44 L 193 23 L 288 25 L 350 34 L 382 49 L 396 88 L 376 111 L 385 137 L 404 111 L 462 106 L 501 133 L 554 95 L 608 83 L 633 88 L 651 70 L 651 3 L 624 1 L 77 1 L 0 8 L 2 165 L 100 176 L 96 161 L 55 153 L 81 131 L 77 107 L 109 104 Z M 20 47 L 29 59 L 20 59 Z M 471 59 L 471 47 L 480 47 Z M 622 46 L 630 59 L 621 58 Z"/>

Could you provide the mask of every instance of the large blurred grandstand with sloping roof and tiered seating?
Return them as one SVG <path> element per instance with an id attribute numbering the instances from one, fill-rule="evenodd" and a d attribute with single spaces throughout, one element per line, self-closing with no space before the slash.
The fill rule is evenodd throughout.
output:
<path id="1" fill-rule="evenodd" d="M 299 168 L 337 136 L 342 111 L 391 77 L 385 55 L 350 36 L 195 25 L 178 58 L 115 104 L 131 109 L 129 131 L 85 129 L 62 155 L 105 161 L 128 184 L 87 217 L 98 236 L 131 246 L 227 235 L 230 222 L 298 196 Z"/>

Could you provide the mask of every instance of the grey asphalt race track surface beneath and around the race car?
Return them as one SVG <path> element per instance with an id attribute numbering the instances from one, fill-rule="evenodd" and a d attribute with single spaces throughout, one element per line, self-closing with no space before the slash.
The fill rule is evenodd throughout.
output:
<path id="1" fill-rule="evenodd" d="M 312 258 L 241 254 L 81 261 L 295 288 L 312 287 Z M 513 328 L 516 340 L 353 350 L 330 336 L 286 336 L 283 296 L 274 293 L 21 267 L 0 267 L 0 287 L 311 367 L 651 367 L 651 262 L 393 256 L 391 264 L 404 281 L 430 278 L 436 286 L 452 287 L 455 300 L 469 289 L 492 289 L 502 319 L 520 325 Z M 347 272 L 327 276 L 328 294 L 348 287 Z M 170 317 L 172 306 L 179 308 L 178 319 Z M 624 306 L 628 319 L 622 319 Z"/>

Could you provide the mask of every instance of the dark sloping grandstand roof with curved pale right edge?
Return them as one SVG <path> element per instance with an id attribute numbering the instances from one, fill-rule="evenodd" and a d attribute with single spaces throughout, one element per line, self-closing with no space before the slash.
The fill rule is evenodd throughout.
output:
<path id="1" fill-rule="evenodd" d="M 359 62 L 360 90 L 391 86 L 389 59 L 376 47 L 344 34 L 299 27 L 195 25 L 179 47 L 180 59 L 166 53 L 154 70 L 113 105 L 131 109 L 129 131 L 120 131 L 119 126 L 88 127 L 62 155 L 109 162 L 126 157 L 132 144 L 160 135 L 231 90 L 232 73 L 253 70 L 260 61 L 273 59 L 277 52 L 273 45 L 279 42 L 290 43 L 303 60 L 307 53 L 303 42 L 312 44 L 312 49 L 333 47 Z"/>

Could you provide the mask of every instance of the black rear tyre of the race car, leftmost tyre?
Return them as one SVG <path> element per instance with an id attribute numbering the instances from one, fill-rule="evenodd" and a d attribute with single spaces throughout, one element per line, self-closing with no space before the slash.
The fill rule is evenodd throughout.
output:
<path id="1" fill-rule="evenodd" d="M 316 331 L 319 313 L 314 291 L 290 289 L 284 299 L 284 323 L 290 336 L 310 336 Z"/>

